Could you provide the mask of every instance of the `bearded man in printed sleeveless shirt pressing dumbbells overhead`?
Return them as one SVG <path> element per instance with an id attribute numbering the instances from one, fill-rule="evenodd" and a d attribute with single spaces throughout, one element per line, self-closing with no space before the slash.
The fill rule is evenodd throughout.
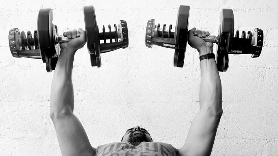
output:
<path id="1" fill-rule="evenodd" d="M 73 40 L 60 44 L 61 53 L 51 86 L 50 117 L 62 155 L 210 155 L 222 115 L 221 81 L 214 58 L 200 62 L 200 110 L 192 121 L 185 144 L 181 148 L 153 142 L 148 131 L 139 126 L 128 129 L 121 142 L 92 147 L 81 122 L 73 114 L 73 59 L 75 52 L 86 42 L 84 32 L 82 29 L 64 32 L 64 36 Z M 212 53 L 213 44 L 201 39 L 206 36 L 209 36 L 209 32 L 195 28 L 188 31 L 188 44 L 197 49 L 200 56 Z"/>

